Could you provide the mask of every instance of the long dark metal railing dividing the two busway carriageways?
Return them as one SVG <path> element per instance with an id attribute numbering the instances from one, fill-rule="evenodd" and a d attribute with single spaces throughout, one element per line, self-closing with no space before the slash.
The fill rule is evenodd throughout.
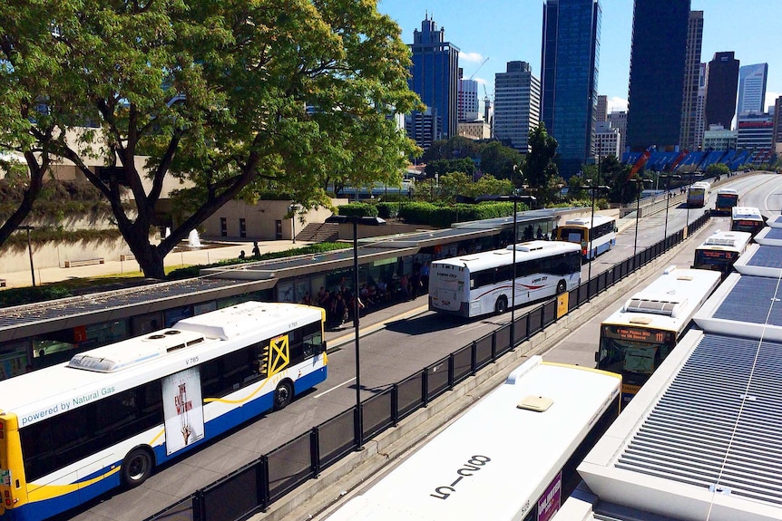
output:
<path id="1" fill-rule="evenodd" d="M 706 214 L 690 223 L 687 236 L 702 227 L 709 217 Z M 685 237 L 683 232 L 679 230 L 571 290 L 568 313 L 679 245 Z M 557 320 L 557 300 L 552 299 L 515 319 L 513 342 L 511 324 L 503 324 L 494 332 L 396 382 L 386 391 L 362 401 L 360 429 L 363 439 L 371 439 L 395 427 L 415 410 L 426 407 L 430 401 Z M 265 511 L 280 497 L 308 479 L 317 478 L 323 469 L 357 449 L 357 416 L 355 406 L 341 412 L 145 521 L 233 521 Z"/>

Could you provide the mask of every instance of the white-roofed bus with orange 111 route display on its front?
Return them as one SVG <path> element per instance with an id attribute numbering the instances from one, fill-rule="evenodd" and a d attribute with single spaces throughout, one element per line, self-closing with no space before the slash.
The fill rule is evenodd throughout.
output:
<path id="1" fill-rule="evenodd" d="M 672 265 L 602 321 L 595 362 L 598 369 L 621 374 L 622 400 L 629 401 L 649 380 L 720 281 L 716 271 Z"/>

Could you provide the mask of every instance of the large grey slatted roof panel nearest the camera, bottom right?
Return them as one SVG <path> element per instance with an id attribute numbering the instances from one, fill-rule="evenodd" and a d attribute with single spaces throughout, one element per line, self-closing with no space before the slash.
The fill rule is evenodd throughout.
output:
<path id="1" fill-rule="evenodd" d="M 780 389 L 782 344 L 707 334 L 614 467 L 782 506 Z"/>

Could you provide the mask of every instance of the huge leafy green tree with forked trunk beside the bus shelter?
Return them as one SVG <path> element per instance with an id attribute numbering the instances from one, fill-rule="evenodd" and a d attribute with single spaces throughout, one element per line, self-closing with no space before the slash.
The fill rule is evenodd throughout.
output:
<path id="1" fill-rule="evenodd" d="M 6 0 L 0 51 L 0 150 L 24 154 L 31 188 L 52 158 L 72 161 L 147 276 L 231 199 L 327 204 L 329 181 L 396 184 L 417 152 L 392 117 L 420 108 L 408 49 L 371 0 Z M 152 245 L 171 179 L 193 188 Z"/>

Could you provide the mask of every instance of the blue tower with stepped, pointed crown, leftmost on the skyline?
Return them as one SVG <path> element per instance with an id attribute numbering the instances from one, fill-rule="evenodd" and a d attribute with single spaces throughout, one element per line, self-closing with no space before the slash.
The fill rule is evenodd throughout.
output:
<path id="1" fill-rule="evenodd" d="M 445 28 L 437 30 L 435 21 L 426 15 L 421 30 L 413 32 L 410 52 L 413 65 L 408 86 L 431 109 L 432 116 L 442 121 L 436 139 L 447 140 L 456 135 L 459 48 L 445 42 Z M 415 135 L 411 138 L 415 140 Z"/>

